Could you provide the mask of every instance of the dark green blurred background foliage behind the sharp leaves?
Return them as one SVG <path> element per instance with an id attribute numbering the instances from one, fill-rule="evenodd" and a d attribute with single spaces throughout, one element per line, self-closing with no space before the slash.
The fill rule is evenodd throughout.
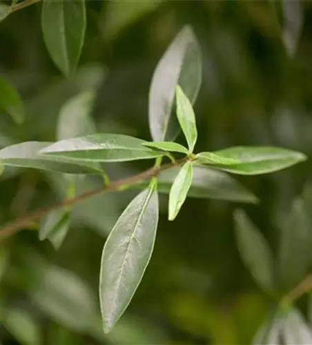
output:
<path id="1" fill-rule="evenodd" d="M 0 23 L 0 72 L 18 88 L 26 106 L 21 125 L 1 114 L 1 146 L 54 141 L 60 107 L 90 86 L 97 86 L 92 112 L 97 131 L 150 140 L 148 90 L 153 70 L 177 31 L 190 23 L 204 63 L 203 85 L 195 103 L 197 151 L 270 145 L 311 156 L 311 1 L 302 1 L 304 24 L 294 57 L 282 39 L 286 25 L 282 1 L 161 1 L 142 13 L 141 1 L 119 2 L 117 10 L 112 3 L 87 1 L 86 40 L 79 68 L 68 79 L 44 46 L 41 3 Z M 130 7 L 135 15 L 123 23 Z M 184 144 L 182 135 L 178 141 Z M 113 179 L 146 167 L 146 162 L 107 165 Z M 0 319 L 12 313 L 10 322 L 0 326 L 1 342 L 250 343 L 271 310 L 271 300 L 242 263 L 233 233 L 233 210 L 246 210 L 276 254 L 280 224 L 293 198 L 311 179 L 311 161 L 270 175 L 237 179 L 260 198 L 259 205 L 187 199 L 177 219 L 168 222 L 168 199 L 161 198 L 150 265 L 128 310 L 108 335 L 102 335 L 100 323 L 92 331 L 84 328 L 84 320 L 93 317 L 89 297 L 84 288 L 77 290 L 80 283 L 70 277 L 90 287 L 97 320 L 101 249 L 135 193 L 110 193 L 75 206 L 70 233 L 58 251 L 49 242 L 39 242 L 31 230 L 1 243 L 0 266 L 6 262 Z M 88 178 L 81 189 L 99 183 Z M 62 197 L 55 173 L 7 169 L 0 186 L 1 224 Z M 52 286 L 48 293 L 38 288 L 42 279 Z M 15 315 L 17 310 L 26 317 Z"/>

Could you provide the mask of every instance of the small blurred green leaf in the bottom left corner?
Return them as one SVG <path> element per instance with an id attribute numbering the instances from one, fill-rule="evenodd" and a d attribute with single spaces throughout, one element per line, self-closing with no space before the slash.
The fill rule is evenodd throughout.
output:
<path id="1" fill-rule="evenodd" d="M 28 311 L 19 308 L 10 308 L 6 312 L 4 324 L 21 345 L 41 344 L 39 323 Z"/>

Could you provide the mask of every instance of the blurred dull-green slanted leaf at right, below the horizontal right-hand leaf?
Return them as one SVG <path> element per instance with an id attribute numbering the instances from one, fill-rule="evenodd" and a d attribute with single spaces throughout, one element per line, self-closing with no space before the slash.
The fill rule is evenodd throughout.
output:
<path id="1" fill-rule="evenodd" d="M 244 264 L 264 290 L 274 290 L 273 255 L 266 239 L 243 210 L 235 211 L 234 220 L 237 246 Z"/>

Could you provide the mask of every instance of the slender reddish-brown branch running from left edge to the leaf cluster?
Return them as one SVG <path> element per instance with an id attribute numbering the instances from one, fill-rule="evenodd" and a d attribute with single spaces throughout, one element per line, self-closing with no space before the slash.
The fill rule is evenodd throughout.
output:
<path id="1" fill-rule="evenodd" d="M 21 217 L 19 219 L 16 219 L 5 226 L 3 226 L 0 229 L 0 242 L 15 233 L 18 233 L 19 231 L 23 230 L 23 228 L 26 228 L 30 224 L 33 223 L 33 221 L 43 217 L 47 213 L 50 213 L 53 210 L 58 210 L 59 208 L 64 208 L 66 206 L 71 206 L 73 204 L 76 204 L 77 202 L 84 201 L 88 199 L 89 197 L 94 197 L 95 195 L 99 195 L 101 193 L 106 192 L 112 192 L 117 190 L 123 190 L 127 186 L 131 186 L 133 184 L 137 184 L 139 181 L 142 181 L 144 179 L 149 179 L 150 177 L 157 176 L 159 172 L 162 172 L 164 170 L 167 170 L 169 168 L 173 168 L 173 166 L 179 166 L 183 164 L 187 158 L 180 159 L 179 161 L 176 161 L 175 164 L 164 164 L 162 166 L 154 166 L 153 168 L 149 168 L 148 170 L 139 173 L 138 175 L 127 177 L 126 179 L 119 179 L 117 181 L 110 182 L 110 184 L 107 184 L 101 188 L 95 189 L 95 190 L 89 190 L 88 192 L 78 195 L 77 197 L 72 197 L 69 199 L 64 199 L 64 201 L 61 201 L 58 204 L 54 204 L 52 206 L 40 208 L 39 210 L 35 210 L 32 213 L 29 213 L 25 217 Z"/>

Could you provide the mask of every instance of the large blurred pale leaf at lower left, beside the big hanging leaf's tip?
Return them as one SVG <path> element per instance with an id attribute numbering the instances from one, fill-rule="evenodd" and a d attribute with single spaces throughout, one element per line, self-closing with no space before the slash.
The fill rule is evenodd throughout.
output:
<path id="1" fill-rule="evenodd" d="M 74 273 L 53 266 L 41 257 L 27 260 L 35 277 L 28 290 L 30 299 L 58 324 L 88 333 L 98 315 L 89 286 Z"/>

